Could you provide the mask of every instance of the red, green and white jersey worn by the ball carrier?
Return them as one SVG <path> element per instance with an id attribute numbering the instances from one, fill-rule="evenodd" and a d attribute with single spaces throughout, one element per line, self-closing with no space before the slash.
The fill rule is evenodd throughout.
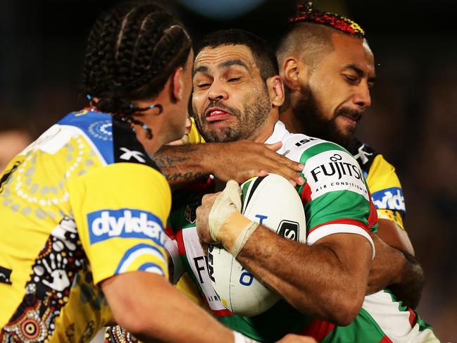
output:
<path id="1" fill-rule="evenodd" d="M 366 230 L 375 230 L 375 210 L 365 193 L 362 172 L 344 149 L 320 139 L 291 135 L 279 122 L 267 143 L 280 140 L 283 146 L 279 154 L 305 164 L 306 184 L 297 190 L 306 210 L 308 244 L 332 233 L 353 232 L 366 237 Z M 303 316 L 285 301 L 259 316 L 234 315 L 213 289 L 212 270 L 208 269 L 207 256 L 199 244 L 194 218 L 186 214 L 192 213 L 189 208 L 199 206 L 206 192 L 211 191 L 177 193 L 169 225 L 175 230 L 184 266 L 208 308 L 229 328 L 261 342 L 274 342 L 290 332 L 311 335 L 318 342 L 436 342 L 430 327 L 387 291 L 365 297 L 361 313 L 346 327 Z"/>

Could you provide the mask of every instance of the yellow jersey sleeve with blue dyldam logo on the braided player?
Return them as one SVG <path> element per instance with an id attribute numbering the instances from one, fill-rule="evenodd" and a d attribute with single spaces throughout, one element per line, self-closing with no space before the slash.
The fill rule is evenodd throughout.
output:
<path id="1" fill-rule="evenodd" d="M 168 182 L 139 163 L 114 163 L 68 182 L 70 206 L 94 283 L 134 270 L 168 277 Z"/>

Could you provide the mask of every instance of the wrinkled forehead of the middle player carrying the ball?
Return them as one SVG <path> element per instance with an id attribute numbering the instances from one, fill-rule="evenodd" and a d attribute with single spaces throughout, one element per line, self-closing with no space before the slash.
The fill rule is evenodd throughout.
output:
<path id="1" fill-rule="evenodd" d="M 194 75 L 211 74 L 232 67 L 244 68 L 249 72 L 257 68 L 252 51 L 248 46 L 220 45 L 202 49 L 194 61 Z"/>

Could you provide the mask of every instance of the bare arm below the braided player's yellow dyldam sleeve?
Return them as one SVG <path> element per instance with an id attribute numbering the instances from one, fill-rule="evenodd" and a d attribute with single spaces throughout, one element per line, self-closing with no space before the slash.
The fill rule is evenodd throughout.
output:
<path id="1" fill-rule="evenodd" d="M 111 279 L 102 289 L 113 317 L 142 342 L 233 342 L 229 329 L 185 298 L 164 277 L 132 272 Z"/>

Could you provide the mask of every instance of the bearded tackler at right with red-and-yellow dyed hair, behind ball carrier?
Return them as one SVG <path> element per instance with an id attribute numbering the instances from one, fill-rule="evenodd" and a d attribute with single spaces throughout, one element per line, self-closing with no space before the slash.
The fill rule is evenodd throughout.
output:
<path id="1" fill-rule="evenodd" d="M 378 235 L 396 249 L 376 249 L 368 292 L 389 286 L 415 308 L 423 272 L 403 227 L 405 213 L 399 178 L 392 165 L 354 135 L 363 111 L 370 107 L 375 82 L 373 53 L 364 32 L 351 20 L 299 5 L 299 13 L 279 46 L 281 77 L 289 104 L 280 119 L 291 132 L 305 133 L 344 146 L 357 158 L 377 207 Z M 381 244 L 382 242 L 379 242 Z M 384 244 L 385 245 L 385 244 Z M 383 275 L 392 275 L 387 280 Z M 377 281 L 384 282 L 382 285 Z"/>

